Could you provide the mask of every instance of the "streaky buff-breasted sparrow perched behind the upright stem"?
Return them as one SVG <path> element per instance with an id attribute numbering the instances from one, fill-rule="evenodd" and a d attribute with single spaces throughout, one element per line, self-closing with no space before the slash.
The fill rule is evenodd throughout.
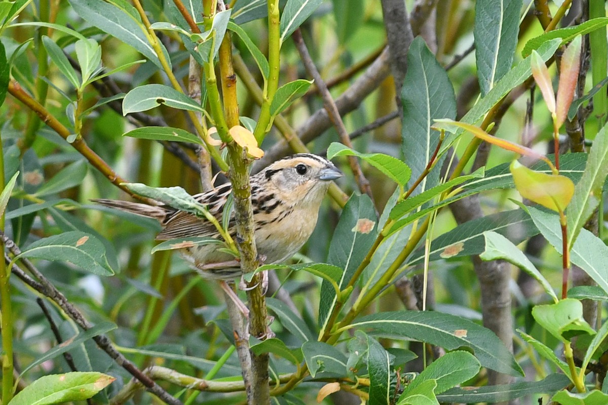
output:
<path id="1" fill-rule="evenodd" d="M 313 233 L 319 207 L 330 186 L 330 181 L 342 177 L 329 160 L 313 154 L 297 154 L 277 160 L 252 175 L 251 203 L 254 211 L 255 243 L 258 254 L 267 264 L 282 262 L 293 256 Z M 230 183 L 209 192 L 193 196 L 206 205 L 221 222 L 224 205 L 232 192 Z M 102 205 L 159 220 L 162 231 L 157 240 L 184 237 L 215 237 L 219 233 L 205 219 L 159 203 L 156 206 L 118 200 L 95 200 Z M 234 219 L 229 222 L 229 233 L 236 236 Z M 182 248 L 182 255 L 202 276 L 229 280 L 241 276 L 234 258 L 218 250 L 215 243 Z M 230 266 L 224 267 L 224 264 Z"/>

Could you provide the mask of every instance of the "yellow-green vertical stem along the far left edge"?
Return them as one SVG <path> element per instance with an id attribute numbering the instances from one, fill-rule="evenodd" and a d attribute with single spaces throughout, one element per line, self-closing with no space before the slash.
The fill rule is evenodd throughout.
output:
<path id="1" fill-rule="evenodd" d="M 0 134 L 2 145 L 2 134 Z M 0 148 L 1 149 L 1 148 Z M 4 153 L 0 150 L 0 192 L 4 191 Z M 0 229 L 4 232 L 4 213 L 0 216 Z M 4 252 L 4 242 L 0 242 Z M 10 303 L 10 272 L 6 262 L 0 260 L 0 295 L 2 309 L 2 403 L 13 398 L 13 311 Z"/>

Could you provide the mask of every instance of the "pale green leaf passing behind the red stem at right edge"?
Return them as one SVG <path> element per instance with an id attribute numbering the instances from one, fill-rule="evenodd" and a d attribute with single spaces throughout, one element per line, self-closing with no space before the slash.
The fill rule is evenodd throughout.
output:
<path id="1" fill-rule="evenodd" d="M 542 236 L 558 252 L 562 251 L 562 231 L 559 217 L 534 207 L 528 207 L 528 213 Z M 576 242 L 570 250 L 570 262 L 581 267 L 599 287 L 608 293 L 608 247 L 601 239 L 582 228 Z"/>

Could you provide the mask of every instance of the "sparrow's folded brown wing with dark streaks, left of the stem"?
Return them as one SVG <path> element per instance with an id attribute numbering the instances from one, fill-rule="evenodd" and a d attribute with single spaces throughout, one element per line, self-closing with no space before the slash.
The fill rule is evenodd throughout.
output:
<path id="1" fill-rule="evenodd" d="M 209 192 L 193 196 L 202 205 L 206 205 L 219 223 L 222 222 L 222 214 L 226 200 L 232 192 L 230 183 L 218 186 Z M 231 219 L 230 222 L 233 222 Z M 162 222 L 162 231 L 156 236 L 157 240 L 180 239 L 183 237 L 215 237 L 219 238 L 219 232 L 215 226 L 204 218 L 196 217 L 184 211 L 176 211 Z"/>

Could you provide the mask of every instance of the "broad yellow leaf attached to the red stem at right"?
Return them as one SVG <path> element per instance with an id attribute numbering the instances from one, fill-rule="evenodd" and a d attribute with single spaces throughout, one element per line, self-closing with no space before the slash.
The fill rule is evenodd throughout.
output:
<path id="1" fill-rule="evenodd" d="M 574 183 L 568 177 L 535 172 L 517 160 L 511 163 L 511 174 L 523 198 L 553 211 L 563 212 L 574 194 Z"/>

